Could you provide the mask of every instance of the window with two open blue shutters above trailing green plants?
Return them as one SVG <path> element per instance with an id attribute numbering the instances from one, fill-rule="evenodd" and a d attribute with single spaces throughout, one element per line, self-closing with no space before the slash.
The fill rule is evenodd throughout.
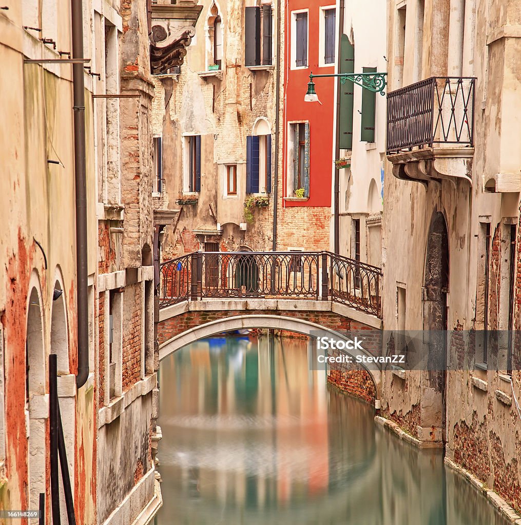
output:
<path id="1" fill-rule="evenodd" d="M 246 138 L 246 193 L 271 193 L 271 135 Z"/>

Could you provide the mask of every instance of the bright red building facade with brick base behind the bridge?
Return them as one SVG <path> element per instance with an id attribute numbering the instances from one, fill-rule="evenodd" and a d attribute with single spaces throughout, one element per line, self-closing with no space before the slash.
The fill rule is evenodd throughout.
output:
<path id="1" fill-rule="evenodd" d="M 289 0 L 284 13 L 279 249 L 329 249 L 334 79 L 316 79 L 321 103 L 304 102 L 304 96 L 311 72 L 334 73 L 335 15 L 327 0 Z"/>

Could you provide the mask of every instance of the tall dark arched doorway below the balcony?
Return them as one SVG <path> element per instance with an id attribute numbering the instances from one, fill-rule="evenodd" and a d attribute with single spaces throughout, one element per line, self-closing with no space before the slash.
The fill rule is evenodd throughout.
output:
<path id="1" fill-rule="evenodd" d="M 421 426 L 440 428 L 445 441 L 448 230 L 442 212 L 434 212 L 427 237 L 423 289 L 423 330 L 427 341 L 422 372 Z"/>

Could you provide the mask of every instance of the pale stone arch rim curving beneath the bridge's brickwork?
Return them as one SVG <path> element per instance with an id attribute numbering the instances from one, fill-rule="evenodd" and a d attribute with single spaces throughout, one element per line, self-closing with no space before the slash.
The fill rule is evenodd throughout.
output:
<path id="1" fill-rule="evenodd" d="M 173 337 L 168 340 L 164 340 L 164 342 L 159 345 L 159 360 L 165 359 L 171 353 L 183 348 L 183 346 L 196 342 L 200 339 L 209 338 L 213 335 L 223 332 L 241 329 L 284 330 L 307 335 L 308 337 L 311 336 L 312 332 L 316 333 L 316 331 L 328 331 L 331 334 L 334 334 L 336 339 L 346 340 L 344 335 L 336 330 L 332 330 L 331 328 L 325 327 L 319 323 L 308 321 L 299 317 L 270 314 L 244 314 L 239 316 L 225 317 L 199 324 L 195 327 L 173 335 Z M 356 355 L 360 355 L 361 353 L 371 356 L 371 353 L 367 351 L 361 352 L 360 350 L 357 350 L 355 353 L 345 349 L 344 352 L 346 354 L 352 355 L 353 358 L 355 358 Z M 361 363 L 359 366 L 361 366 L 362 369 L 365 370 L 367 374 L 369 374 L 371 381 L 374 384 L 375 401 L 380 400 L 381 371 L 379 366 L 376 364 L 367 365 L 364 363 Z"/>

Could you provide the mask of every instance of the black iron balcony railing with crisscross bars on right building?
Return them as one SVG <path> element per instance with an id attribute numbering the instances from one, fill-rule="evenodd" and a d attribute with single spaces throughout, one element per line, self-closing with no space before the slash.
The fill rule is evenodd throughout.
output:
<path id="1" fill-rule="evenodd" d="M 433 144 L 474 145 L 476 79 L 432 77 L 387 94 L 387 155 Z"/>

